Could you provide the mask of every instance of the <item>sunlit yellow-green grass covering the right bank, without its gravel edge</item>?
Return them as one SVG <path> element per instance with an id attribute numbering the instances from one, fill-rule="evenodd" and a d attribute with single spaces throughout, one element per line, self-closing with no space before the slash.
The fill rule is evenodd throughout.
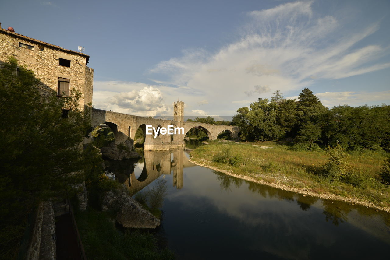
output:
<path id="1" fill-rule="evenodd" d="M 314 193 L 333 193 L 344 197 L 361 198 L 382 207 L 390 206 L 390 188 L 377 181 L 381 165 L 386 158 L 383 154 L 372 151 L 351 154 L 351 165 L 364 177 L 361 185 L 353 186 L 344 182 L 330 182 L 321 177 L 322 166 L 328 161 L 324 151 L 293 151 L 289 150 L 291 146 L 289 144 L 279 142 L 267 144 L 272 144 L 274 148 L 260 149 L 254 145 L 221 143 L 216 140 L 193 150 L 191 156 L 193 161 L 256 180 L 305 188 Z M 229 158 L 237 156 L 241 159 L 239 162 L 235 160 L 234 163 L 229 163 L 229 160 L 220 159 L 224 155 Z"/>

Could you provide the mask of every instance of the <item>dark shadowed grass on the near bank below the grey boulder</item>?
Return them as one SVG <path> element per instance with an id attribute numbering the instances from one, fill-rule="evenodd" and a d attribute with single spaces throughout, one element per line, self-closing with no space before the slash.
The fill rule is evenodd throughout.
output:
<path id="1" fill-rule="evenodd" d="M 175 259 L 169 249 L 158 248 L 158 239 L 151 233 L 117 230 L 106 212 L 76 212 L 76 221 L 88 259 Z"/>

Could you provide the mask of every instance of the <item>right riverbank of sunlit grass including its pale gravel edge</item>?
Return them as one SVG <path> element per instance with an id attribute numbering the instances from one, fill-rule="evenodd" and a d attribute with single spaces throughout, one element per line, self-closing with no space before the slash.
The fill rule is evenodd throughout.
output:
<path id="1" fill-rule="evenodd" d="M 232 157 L 241 158 L 239 164 L 234 166 L 212 159 L 227 151 Z M 376 154 L 353 156 L 354 166 L 359 170 L 365 169 L 363 174 L 368 174 L 367 170 L 372 172 L 379 170 L 381 160 L 383 161 L 381 156 Z M 253 145 L 224 143 L 204 145 L 193 150 L 190 161 L 236 178 L 299 193 L 303 196 L 340 200 L 390 213 L 390 189 L 382 186 L 374 189 L 368 184 L 369 181 L 374 182 L 372 179 L 374 173 L 371 172 L 367 183 L 362 187 L 340 182 L 331 183 L 319 177 L 316 170 L 319 170 L 326 162 L 324 152 L 298 152 L 280 147 L 260 149 Z"/>

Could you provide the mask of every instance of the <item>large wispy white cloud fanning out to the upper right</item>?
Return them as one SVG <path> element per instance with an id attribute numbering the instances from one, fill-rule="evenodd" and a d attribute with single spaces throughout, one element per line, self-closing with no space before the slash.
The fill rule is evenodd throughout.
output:
<path id="1" fill-rule="evenodd" d="M 160 62 L 149 72 L 166 74 L 169 80 L 165 84 L 180 86 L 184 97 L 191 96 L 182 99 L 190 106 L 207 97 L 205 109 L 218 113 L 229 109 L 227 103 L 247 96 L 265 98 L 275 90 L 286 93 L 310 87 L 318 80 L 390 67 L 388 62 L 376 62 L 389 54 L 388 48 L 360 44 L 379 24 L 344 29 L 343 20 L 319 15 L 308 1 L 252 11 L 248 18 L 238 41 L 215 53 L 183 51 L 181 57 Z"/>

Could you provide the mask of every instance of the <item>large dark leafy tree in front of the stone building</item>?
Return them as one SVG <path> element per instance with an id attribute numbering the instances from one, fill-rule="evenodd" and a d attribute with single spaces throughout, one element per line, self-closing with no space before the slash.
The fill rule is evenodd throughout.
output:
<path id="1" fill-rule="evenodd" d="M 0 68 L 0 239 L 13 251 L 10 245 L 22 235 L 15 230 L 27 212 L 80 182 L 80 143 L 90 129 L 89 113 L 79 108 L 80 92 L 57 97 L 52 91 L 43 98 L 39 89 L 50 88 L 32 71 L 19 66 L 16 73 L 17 68 L 12 57 Z M 63 108 L 69 110 L 67 117 Z"/>

